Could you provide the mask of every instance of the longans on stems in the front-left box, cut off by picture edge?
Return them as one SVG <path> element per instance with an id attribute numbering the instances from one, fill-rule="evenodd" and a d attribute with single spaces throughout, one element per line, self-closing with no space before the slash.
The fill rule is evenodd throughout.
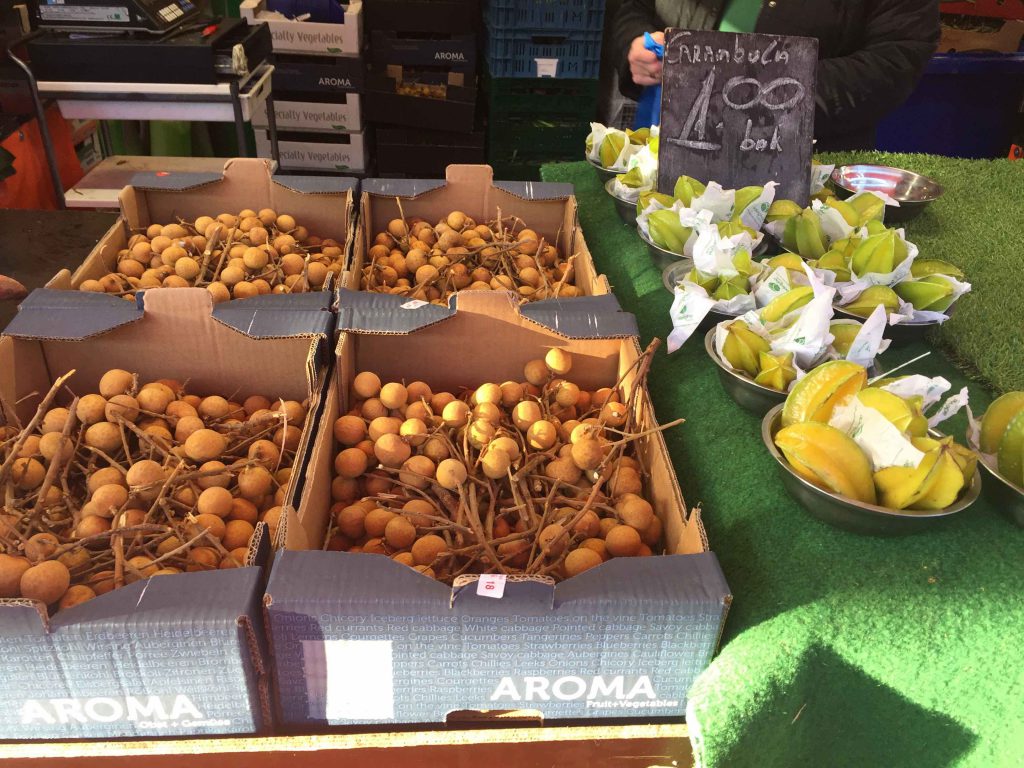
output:
<path id="1" fill-rule="evenodd" d="M 98 392 L 22 427 L 0 426 L 0 598 L 52 609 L 153 575 L 239 567 L 256 524 L 275 530 L 306 406 L 138 386 L 108 371 Z"/>

